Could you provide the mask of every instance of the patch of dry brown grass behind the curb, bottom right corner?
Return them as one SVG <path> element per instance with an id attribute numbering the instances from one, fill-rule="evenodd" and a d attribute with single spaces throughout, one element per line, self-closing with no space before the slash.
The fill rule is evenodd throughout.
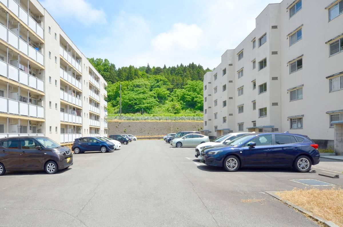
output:
<path id="1" fill-rule="evenodd" d="M 343 226 L 343 189 L 293 189 L 276 193 L 283 200 Z"/>

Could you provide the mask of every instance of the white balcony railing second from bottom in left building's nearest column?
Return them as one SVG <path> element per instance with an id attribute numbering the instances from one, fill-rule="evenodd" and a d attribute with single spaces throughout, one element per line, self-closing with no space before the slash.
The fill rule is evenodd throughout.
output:
<path id="1" fill-rule="evenodd" d="M 0 97 L 0 111 L 29 117 L 44 118 L 44 107 Z"/>

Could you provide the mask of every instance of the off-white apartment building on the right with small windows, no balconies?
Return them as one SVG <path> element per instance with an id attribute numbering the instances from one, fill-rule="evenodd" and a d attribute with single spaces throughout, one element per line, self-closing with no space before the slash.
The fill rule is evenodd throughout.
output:
<path id="1" fill-rule="evenodd" d="M 269 4 L 204 75 L 205 133 L 289 131 L 331 143 L 331 122 L 343 120 L 342 24 L 343 0 Z"/>

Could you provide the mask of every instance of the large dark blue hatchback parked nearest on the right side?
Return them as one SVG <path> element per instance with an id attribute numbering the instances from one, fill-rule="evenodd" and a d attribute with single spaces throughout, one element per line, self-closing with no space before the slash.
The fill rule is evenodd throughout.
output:
<path id="1" fill-rule="evenodd" d="M 229 172 L 240 167 L 293 167 L 308 172 L 319 163 L 318 144 L 306 135 L 253 133 L 201 151 L 203 162 Z"/>

